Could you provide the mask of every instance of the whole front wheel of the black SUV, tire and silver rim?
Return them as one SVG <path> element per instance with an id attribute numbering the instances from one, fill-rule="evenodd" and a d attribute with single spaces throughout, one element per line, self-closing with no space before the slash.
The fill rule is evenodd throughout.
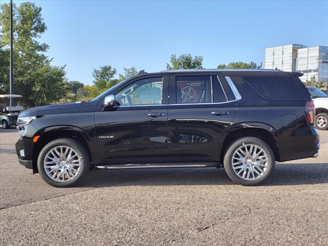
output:
<path id="1" fill-rule="evenodd" d="M 71 187 L 81 181 L 90 169 L 90 155 L 77 140 L 58 138 L 39 153 L 37 169 L 54 187 Z"/>

